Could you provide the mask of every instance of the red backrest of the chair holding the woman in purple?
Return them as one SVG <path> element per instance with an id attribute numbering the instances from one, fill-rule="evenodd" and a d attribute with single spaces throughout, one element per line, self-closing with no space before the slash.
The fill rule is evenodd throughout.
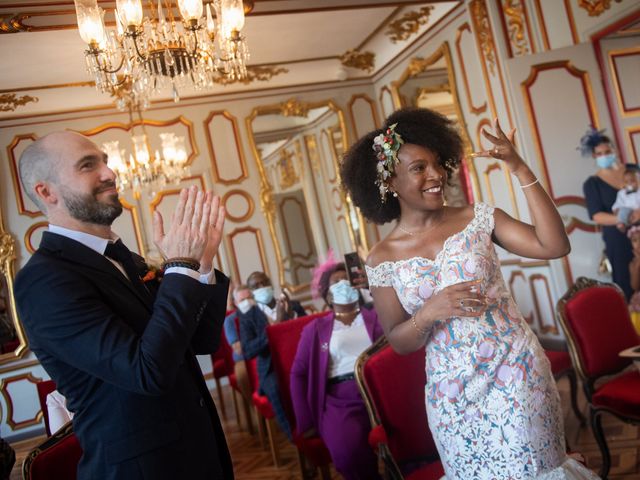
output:
<path id="1" fill-rule="evenodd" d="M 300 335 L 308 323 L 326 314 L 327 312 L 313 313 L 286 322 L 274 323 L 267 327 L 271 364 L 278 378 L 280 400 L 292 429 L 295 427 L 296 418 L 291 401 L 291 367 L 298 351 Z"/>

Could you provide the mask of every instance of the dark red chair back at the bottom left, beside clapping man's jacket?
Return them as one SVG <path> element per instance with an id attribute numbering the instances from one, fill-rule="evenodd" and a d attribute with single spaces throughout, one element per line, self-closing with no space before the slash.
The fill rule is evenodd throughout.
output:
<path id="1" fill-rule="evenodd" d="M 73 425 L 69 422 L 31 450 L 22 463 L 22 478 L 75 480 L 81 456 L 82 448 L 73 433 Z"/>

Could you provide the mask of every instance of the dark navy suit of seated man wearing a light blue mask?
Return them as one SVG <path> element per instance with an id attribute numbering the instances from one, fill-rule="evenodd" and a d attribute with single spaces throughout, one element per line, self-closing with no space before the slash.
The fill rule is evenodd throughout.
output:
<path id="1" fill-rule="evenodd" d="M 238 319 L 240 321 L 240 344 L 244 359 L 246 361 L 257 357 L 258 392 L 267 396 L 278 425 L 287 437 L 291 438 L 291 427 L 282 407 L 278 379 L 271 364 L 271 351 L 267 339 L 269 320 L 257 305 L 251 306 L 247 312 L 239 311 Z"/>

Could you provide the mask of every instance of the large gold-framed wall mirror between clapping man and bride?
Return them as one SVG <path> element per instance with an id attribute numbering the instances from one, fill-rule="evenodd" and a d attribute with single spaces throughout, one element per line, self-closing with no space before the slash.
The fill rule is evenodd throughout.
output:
<path id="1" fill-rule="evenodd" d="M 367 245 L 361 218 L 340 187 L 339 159 L 348 147 L 344 115 L 330 100 L 290 99 L 255 108 L 246 122 L 279 283 L 303 294 L 311 268 L 328 249 L 340 258 Z"/>

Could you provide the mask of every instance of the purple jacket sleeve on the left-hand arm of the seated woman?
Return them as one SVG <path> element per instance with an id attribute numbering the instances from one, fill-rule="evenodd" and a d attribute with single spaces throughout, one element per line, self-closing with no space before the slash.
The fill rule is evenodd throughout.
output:
<path id="1" fill-rule="evenodd" d="M 313 352 L 314 336 L 312 325 L 313 323 L 307 325 L 302 330 L 290 374 L 291 402 L 293 403 L 293 411 L 296 416 L 296 430 L 299 434 L 303 434 L 315 426 L 313 424 L 313 416 L 311 415 L 311 406 L 307 400 L 309 382 L 314 381 L 314 379 L 309 378 L 309 356 Z"/>

